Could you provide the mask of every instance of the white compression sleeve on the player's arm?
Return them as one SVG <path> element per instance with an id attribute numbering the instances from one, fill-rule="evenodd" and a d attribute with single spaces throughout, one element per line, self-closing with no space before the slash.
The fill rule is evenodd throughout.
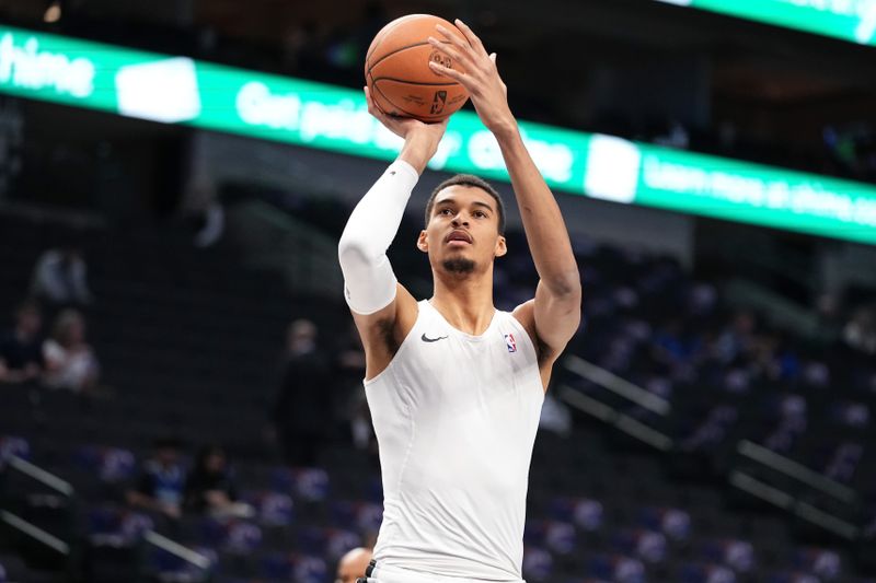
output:
<path id="1" fill-rule="evenodd" d="M 396 160 L 349 215 L 337 256 L 344 272 L 344 296 L 357 314 L 373 314 L 395 299 L 396 280 L 387 249 L 418 179 L 411 164 Z"/>

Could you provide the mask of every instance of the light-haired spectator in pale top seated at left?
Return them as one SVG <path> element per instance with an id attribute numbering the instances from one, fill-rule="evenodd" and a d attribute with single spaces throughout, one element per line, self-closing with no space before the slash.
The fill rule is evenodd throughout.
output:
<path id="1" fill-rule="evenodd" d="M 73 393 L 97 388 L 100 365 L 85 341 L 85 318 L 76 310 L 61 311 L 55 319 L 51 338 L 43 345 L 46 360 L 45 384 Z"/>

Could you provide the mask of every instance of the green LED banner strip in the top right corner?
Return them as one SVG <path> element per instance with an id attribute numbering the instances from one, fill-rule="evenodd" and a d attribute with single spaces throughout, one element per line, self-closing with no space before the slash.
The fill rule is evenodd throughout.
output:
<path id="1" fill-rule="evenodd" d="M 874 0 L 657 0 L 861 45 L 876 45 Z"/>

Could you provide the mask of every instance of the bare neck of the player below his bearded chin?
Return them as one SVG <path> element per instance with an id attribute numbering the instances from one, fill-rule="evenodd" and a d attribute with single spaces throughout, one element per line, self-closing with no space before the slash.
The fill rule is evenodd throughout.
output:
<path id="1" fill-rule="evenodd" d="M 493 320 L 493 273 L 459 278 L 435 275 L 431 305 L 454 328 L 480 336 Z"/>

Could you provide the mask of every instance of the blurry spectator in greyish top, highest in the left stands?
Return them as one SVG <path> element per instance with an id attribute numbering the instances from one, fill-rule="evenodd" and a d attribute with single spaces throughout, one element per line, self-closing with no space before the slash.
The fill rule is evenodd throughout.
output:
<path id="1" fill-rule="evenodd" d="M 31 292 L 55 305 L 90 304 L 87 271 L 82 253 L 76 247 L 48 249 L 36 260 Z"/>

